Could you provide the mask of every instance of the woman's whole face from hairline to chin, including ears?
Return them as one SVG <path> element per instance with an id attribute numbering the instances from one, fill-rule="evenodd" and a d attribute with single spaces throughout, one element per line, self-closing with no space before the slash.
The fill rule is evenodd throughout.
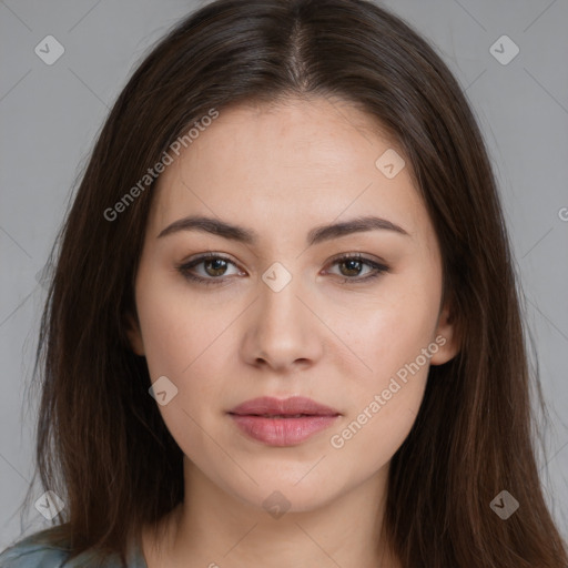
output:
<path id="1" fill-rule="evenodd" d="M 326 99 L 222 110 L 155 190 L 131 343 L 193 470 L 254 507 L 278 490 L 310 510 L 384 476 L 429 365 L 455 355 L 436 234 L 376 126 Z M 230 414 L 295 396 L 327 413 Z"/>

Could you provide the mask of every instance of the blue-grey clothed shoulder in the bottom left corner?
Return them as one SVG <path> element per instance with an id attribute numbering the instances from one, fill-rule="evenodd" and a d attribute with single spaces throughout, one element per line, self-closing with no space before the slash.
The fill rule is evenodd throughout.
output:
<path id="1" fill-rule="evenodd" d="M 0 554 L 0 568 L 59 568 L 68 557 L 63 545 L 44 540 L 45 531 L 19 540 Z"/>

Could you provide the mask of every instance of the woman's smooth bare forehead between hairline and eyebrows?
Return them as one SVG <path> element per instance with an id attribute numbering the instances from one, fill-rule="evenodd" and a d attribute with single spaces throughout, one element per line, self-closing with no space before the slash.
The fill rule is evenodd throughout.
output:
<path id="1" fill-rule="evenodd" d="M 405 160 L 390 179 L 377 168 L 385 152 Z M 368 213 L 409 233 L 427 223 L 395 141 L 369 114 L 324 98 L 221 110 L 161 174 L 153 232 L 195 213 L 267 231 Z"/>

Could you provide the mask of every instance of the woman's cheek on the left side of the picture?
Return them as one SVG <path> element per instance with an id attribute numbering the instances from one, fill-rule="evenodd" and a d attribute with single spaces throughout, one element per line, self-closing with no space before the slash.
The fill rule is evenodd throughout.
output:
<path id="1" fill-rule="evenodd" d="M 165 376 L 173 383 L 175 395 L 158 409 L 182 452 L 200 460 L 210 453 L 216 456 L 206 433 L 214 432 L 220 414 L 210 412 L 217 410 L 222 375 L 214 356 L 220 354 L 229 322 L 215 318 L 211 310 L 200 310 L 194 298 L 165 290 L 160 282 L 148 281 L 140 291 L 146 364 L 152 382 Z"/>

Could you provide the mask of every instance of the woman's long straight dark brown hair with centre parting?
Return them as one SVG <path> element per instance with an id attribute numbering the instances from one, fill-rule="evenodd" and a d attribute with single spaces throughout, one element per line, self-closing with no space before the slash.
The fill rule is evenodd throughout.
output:
<path id="1" fill-rule="evenodd" d="M 385 530 L 396 556 L 408 568 L 566 567 L 536 465 L 538 378 L 481 134 L 436 51 L 365 0 L 214 1 L 161 40 L 118 98 L 58 235 L 41 322 L 38 469 L 67 504 L 50 538 L 67 539 L 71 557 L 97 548 L 124 560 L 142 525 L 183 500 L 182 452 L 125 333 L 155 186 L 140 180 L 211 109 L 283 97 L 337 97 L 376 118 L 408 156 L 438 236 L 460 351 L 430 368 L 392 460 Z M 490 507 L 501 490 L 519 503 L 506 520 Z"/>

